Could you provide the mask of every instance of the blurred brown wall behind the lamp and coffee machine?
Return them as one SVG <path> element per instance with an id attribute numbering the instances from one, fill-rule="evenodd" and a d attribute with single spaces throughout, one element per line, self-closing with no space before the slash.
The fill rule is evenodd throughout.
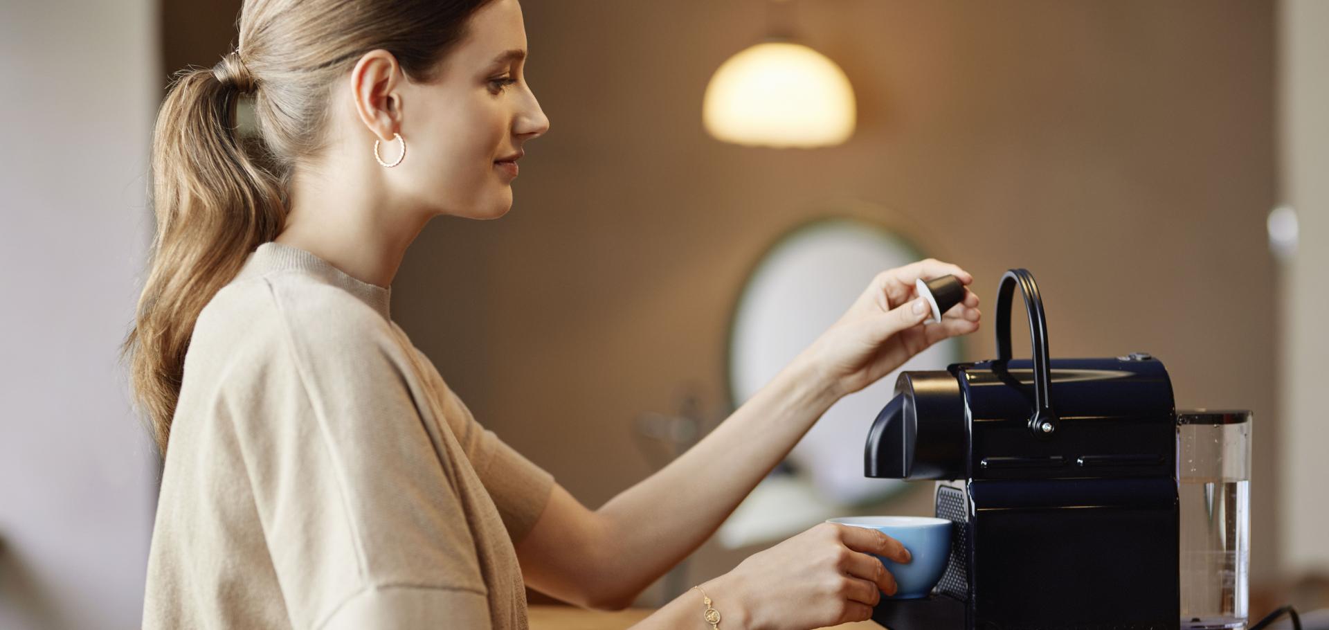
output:
<path id="1" fill-rule="evenodd" d="M 583 502 L 653 472 L 638 413 L 675 411 L 688 384 L 724 405 L 744 274 L 855 198 L 889 210 L 851 214 L 971 270 L 989 308 L 1006 268 L 1030 268 L 1054 356 L 1148 351 L 1179 407 L 1255 409 L 1252 565 L 1256 586 L 1271 578 L 1272 4 L 797 3 L 801 40 L 841 64 L 860 110 L 847 145 L 812 152 L 702 129 L 706 82 L 763 36 L 762 1 L 522 5 L 552 130 L 526 146 L 512 213 L 425 230 L 393 312 L 481 421 Z M 987 323 L 971 359 L 993 355 Z M 754 550 L 708 544 L 688 583 Z"/>

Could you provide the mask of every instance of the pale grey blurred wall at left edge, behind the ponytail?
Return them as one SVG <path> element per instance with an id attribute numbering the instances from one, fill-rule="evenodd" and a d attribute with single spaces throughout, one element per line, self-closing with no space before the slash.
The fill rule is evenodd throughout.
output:
<path id="1" fill-rule="evenodd" d="M 0 629 L 130 629 L 157 456 L 117 347 L 152 218 L 148 0 L 0 7 Z"/>

